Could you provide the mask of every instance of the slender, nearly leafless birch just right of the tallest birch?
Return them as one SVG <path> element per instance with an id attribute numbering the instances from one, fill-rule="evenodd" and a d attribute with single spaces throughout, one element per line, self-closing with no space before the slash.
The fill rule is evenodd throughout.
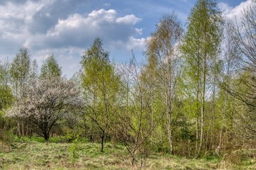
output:
<path id="1" fill-rule="evenodd" d="M 218 74 L 218 81 L 220 82 L 221 92 L 220 98 L 223 100 L 222 104 L 222 118 L 221 118 L 221 130 L 219 134 L 219 141 L 218 141 L 218 149 L 222 149 L 223 144 L 223 131 L 225 128 L 228 128 L 228 121 L 227 115 L 232 114 L 231 108 L 232 102 L 234 101 L 233 96 L 228 94 L 227 89 L 233 89 L 232 86 L 233 80 L 237 79 L 235 74 L 238 72 L 238 63 L 240 59 L 240 50 L 237 47 L 238 43 L 238 35 L 235 33 L 235 25 L 232 21 L 226 21 L 224 27 L 224 38 L 223 38 L 223 58 L 222 58 L 222 67 L 221 67 L 221 74 Z"/>

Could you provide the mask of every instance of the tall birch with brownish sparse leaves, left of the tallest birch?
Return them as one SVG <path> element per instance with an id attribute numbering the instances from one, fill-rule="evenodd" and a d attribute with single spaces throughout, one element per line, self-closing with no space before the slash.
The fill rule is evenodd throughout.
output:
<path id="1" fill-rule="evenodd" d="M 177 15 L 172 12 L 165 14 L 160 18 L 156 25 L 155 32 L 152 33 L 147 46 L 147 64 L 142 70 L 140 83 L 143 84 L 145 90 L 145 103 L 152 111 L 151 124 L 157 122 L 157 118 L 161 118 L 157 130 L 162 129 L 160 134 L 165 135 L 164 141 L 169 142 L 170 152 L 173 152 L 173 132 L 174 120 L 177 111 L 174 111 L 176 106 L 175 100 L 177 97 L 177 89 L 179 89 L 179 76 L 181 73 L 180 57 L 179 57 L 179 42 L 182 40 L 183 29 Z M 147 106 L 146 106 L 147 107 Z M 157 109 L 157 110 L 156 110 Z M 147 113 L 148 111 L 146 111 Z M 147 124 L 147 123 L 143 123 Z M 167 134 L 165 134 L 167 132 Z M 152 137 L 153 138 L 153 137 Z M 157 139 L 160 140 L 157 136 Z"/>

